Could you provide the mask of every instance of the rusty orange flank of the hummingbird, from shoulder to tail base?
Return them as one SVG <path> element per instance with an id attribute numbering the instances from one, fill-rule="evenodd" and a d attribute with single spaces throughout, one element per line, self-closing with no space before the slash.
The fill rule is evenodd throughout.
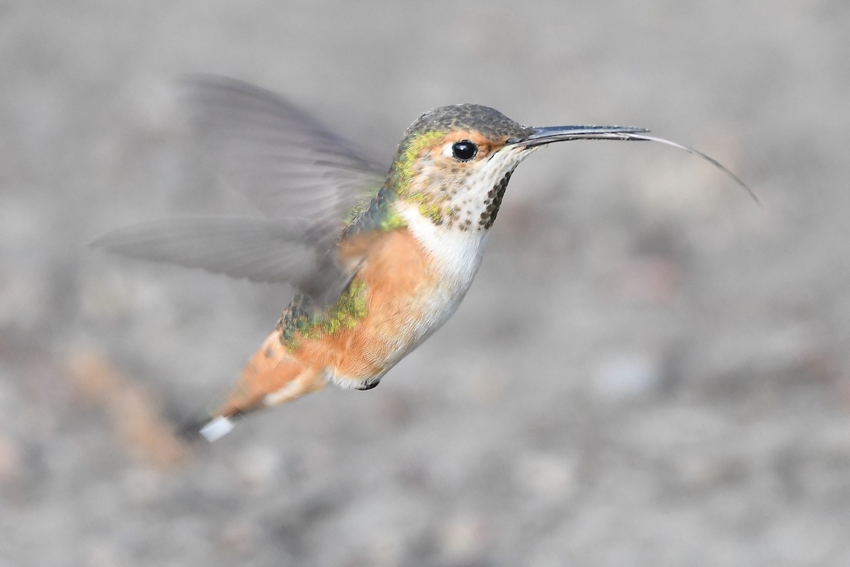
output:
<path id="1" fill-rule="evenodd" d="M 422 340 L 438 278 L 410 231 L 354 235 L 340 245 L 340 255 L 343 263 L 360 264 L 355 278 L 365 283 L 365 317 L 319 338 L 296 332 L 289 348 L 275 330 L 213 416 L 292 401 L 324 388 L 329 379 L 343 387 L 365 387 Z"/>

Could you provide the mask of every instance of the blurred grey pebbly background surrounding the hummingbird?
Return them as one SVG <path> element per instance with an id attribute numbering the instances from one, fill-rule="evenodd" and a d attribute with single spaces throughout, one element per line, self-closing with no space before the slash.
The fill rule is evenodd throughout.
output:
<path id="1" fill-rule="evenodd" d="M 0 3 L 0 564 L 850 564 L 850 5 Z M 456 316 L 377 390 L 171 435 L 290 290 L 88 248 L 251 209 L 174 79 L 389 161 L 425 109 L 649 126 L 519 167 Z"/>

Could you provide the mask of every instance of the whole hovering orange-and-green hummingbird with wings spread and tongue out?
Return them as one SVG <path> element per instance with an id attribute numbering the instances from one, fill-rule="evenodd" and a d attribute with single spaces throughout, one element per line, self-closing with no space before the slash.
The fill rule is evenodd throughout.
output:
<path id="1" fill-rule="evenodd" d="M 479 104 L 421 115 L 387 171 L 274 93 L 210 76 L 189 87 L 196 122 L 229 181 L 266 218 L 155 223 L 94 244 L 297 290 L 235 387 L 195 424 L 210 441 L 228 433 L 235 416 L 329 383 L 380 384 L 455 312 L 511 173 L 544 145 L 667 143 L 709 160 L 751 193 L 716 160 L 645 128 L 524 126 Z"/>

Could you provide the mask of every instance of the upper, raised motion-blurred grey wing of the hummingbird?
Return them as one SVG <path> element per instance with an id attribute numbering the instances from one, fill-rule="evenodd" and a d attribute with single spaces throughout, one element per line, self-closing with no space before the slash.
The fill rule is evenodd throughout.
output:
<path id="1" fill-rule="evenodd" d="M 374 194 L 387 166 L 275 93 L 191 76 L 191 118 L 224 176 L 263 214 L 308 222 L 332 244 L 349 211 Z"/>

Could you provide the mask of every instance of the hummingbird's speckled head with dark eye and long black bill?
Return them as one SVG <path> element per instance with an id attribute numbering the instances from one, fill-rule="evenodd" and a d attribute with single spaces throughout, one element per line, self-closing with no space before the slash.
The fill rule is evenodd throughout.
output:
<path id="1" fill-rule="evenodd" d="M 535 149 L 580 138 L 628 139 L 630 126 L 547 126 L 512 121 L 480 104 L 429 110 L 405 132 L 388 189 L 434 224 L 487 230 L 496 220 L 511 173 Z"/>

